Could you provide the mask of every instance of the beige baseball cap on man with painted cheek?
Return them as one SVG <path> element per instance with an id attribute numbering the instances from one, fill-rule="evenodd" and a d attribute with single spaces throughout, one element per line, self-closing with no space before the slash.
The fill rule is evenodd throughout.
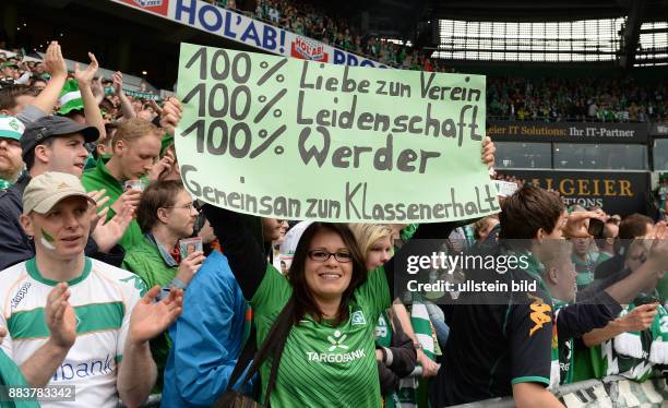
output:
<path id="1" fill-rule="evenodd" d="M 48 213 L 60 201 L 81 196 L 95 204 L 86 194 L 81 180 L 67 172 L 47 171 L 31 179 L 23 192 L 23 214 Z"/>

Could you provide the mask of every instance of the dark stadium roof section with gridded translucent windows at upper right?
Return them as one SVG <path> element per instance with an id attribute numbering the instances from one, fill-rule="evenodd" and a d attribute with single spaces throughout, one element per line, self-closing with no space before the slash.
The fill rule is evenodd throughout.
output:
<path id="1" fill-rule="evenodd" d="M 668 38 L 668 0 L 427 0 L 429 13 L 428 19 L 437 21 L 466 21 L 466 22 L 514 22 L 514 23 L 566 23 L 575 21 L 598 21 L 603 22 L 603 26 L 609 25 L 615 27 L 613 32 L 617 35 L 610 36 L 610 33 L 601 32 L 601 25 L 596 27 L 587 27 L 586 34 L 582 37 L 581 33 L 572 31 L 565 32 L 562 35 L 561 29 L 559 35 L 549 39 L 547 37 L 541 44 L 538 44 L 536 49 L 525 47 L 525 52 L 584 52 L 578 57 L 564 57 L 561 55 L 552 55 L 550 58 L 557 60 L 617 60 L 618 65 L 623 69 L 639 64 L 665 64 L 668 62 L 668 47 L 666 38 Z M 607 24 L 606 21 L 610 22 Z M 658 24 L 651 24 L 657 22 Z M 643 25 L 644 23 L 647 23 Z M 592 23 L 593 24 L 593 23 Z M 537 26 L 538 27 L 538 26 Z M 547 25 L 545 25 L 547 27 Z M 477 28 L 477 26 L 474 26 Z M 593 28 L 593 29 L 592 29 Z M 604 29 L 605 31 L 605 29 Z M 540 28 L 539 28 L 540 32 Z M 457 34 L 458 33 L 458 34 Z M 544 31 L 544 35 L 547 31 Z M 466 31 L 454 29 L 446 36 L 451 38 L 463 35 L 463 38 L 469 36 Z M 473 33 L 479 35 L 479 33 Z M 499 33 L 490 32 L 489 41 L 497 41 L 494 37 Z M 503 36 L 503 34 L 500 34 Z M 540 36 L 540 33 L 538 33 Z M 536 40 L 535 35 L 532 40 Z M 582 38 L 578 38 L 582 37 Z M 598 39 L 596 38 L 598 37 Z M 606 38 L 607 37 L 607 38 Z M 484 38 L 485 39 L 485 38 Z M 503 41 L 503 38 L 500 38 Z M 511 39 L 517 41 L 517 38 Z M 571 45 L 566 51 L 562 48 L 569 48 L 569 41 L 580 41 L 582 45 Z M 592 41 L 594 40 L 594 41 Z M 453 43 L 446 39 L 445 44 Z M 488 43 L 489 43 L 488 41 Z M 444 45 L 443 34 L 440 38 L 441 46 L 445 48 L 445 58 L 455 58 L 457 56 L 456 46 Z M 457 41 L 455 41 L 457 43 Z M 462 40 L 458 40 L 462 43 Z M 478 44 L 484 44 L 478 43 Z M 497 41 L 498 44 L 499 41 Z M 521 43 L 521 41 L 520 41 Z M 538 40 L 540 43 L 540 40 Z M 560 44 L 561 43 L 561 44 Z M 595 43 L 595 44 L 594 44 Z M 547 45 L 547 46 L 546 46 Z M 461 44 L 460 44 L 461 46 Z M 505 45 L 503 46 L 505 47 Z M 469 49 L 466 44 L 465 49 Z M 485 48 L 485 47 L 480 47 Z M 512 47 L 511 47 L 512 48 Z M 522 48 L 522 47 L 520 47 Z M 506 49 L 504 49 L 506 50 Z M 513 49 L 515 50 L 515 49 Z M 482 53 L 473 53 L 473 58 L 488 58 L 487 51 L 490 49 L 481 49 Z M 461 52 L 460 52 L 461 55 Z M 499 55 L 499 52 L 497 52 Z M 484 56 L 484 57 L 477 57 Z M 526 58 L 527 55 L 524 55 Z M 536 55 L 535 55 L 536 56 Z M 468 57 L 468 55 L 466 55 Z M 464 57 L 464 58 L 466 58 Z M 493 57 L 493 56 L 492 56 Z M 498 57 L 498 56 L 497 56 Z M 493 59 L 493 58 L 492 58 Z"/>

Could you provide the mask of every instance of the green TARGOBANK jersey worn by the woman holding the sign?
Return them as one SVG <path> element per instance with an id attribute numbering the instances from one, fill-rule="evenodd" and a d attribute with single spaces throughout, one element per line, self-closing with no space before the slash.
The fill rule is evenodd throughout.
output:
<path id="1" fill-rule="evenodd" d="M 272 265 L 251 300 L 258 345 L 293 293 L 288 280 Z M 355 290 L 347 322 L 333 327 L 310 317 L 293 326 L 278 365 L 273 407 L 380 407 L 374 335 L 379 315 L 390 307 L 385 272 L 379 267 Z M 262 393 L 271 361 L 260 371 Z M 263 398 L 264 399 L 264 398 Z"/>

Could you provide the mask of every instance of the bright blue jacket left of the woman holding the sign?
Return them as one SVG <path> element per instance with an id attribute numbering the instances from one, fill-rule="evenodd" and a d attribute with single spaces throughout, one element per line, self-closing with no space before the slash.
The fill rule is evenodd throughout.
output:
<path id="1" fill-rule="evenodd" d="M 246 309 L 227 257 L 212 252 L 188 285 L 183 313 L 169 327 L 162 407 L 211 407 L 227 389 L 250 327 Z"/>

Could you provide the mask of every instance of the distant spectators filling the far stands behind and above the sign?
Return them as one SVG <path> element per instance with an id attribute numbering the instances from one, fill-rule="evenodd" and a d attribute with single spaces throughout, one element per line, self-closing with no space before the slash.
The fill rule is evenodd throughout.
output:
<path id="1" fill-rule="evenodd" d="M 214 0 L 215 2 L 215 0 Z M 217 1 L 236 9 L 234 0 Z M 259 0 L 255 19 L 346 51 L 407 70 L 454 72 L 413 47 L 361 33 L 303 1 Z M 668 86 L 641 86 L 633 80 L 490 77 L 488 116 L 501 120 L 647 122 L 668 120 Z"/>

